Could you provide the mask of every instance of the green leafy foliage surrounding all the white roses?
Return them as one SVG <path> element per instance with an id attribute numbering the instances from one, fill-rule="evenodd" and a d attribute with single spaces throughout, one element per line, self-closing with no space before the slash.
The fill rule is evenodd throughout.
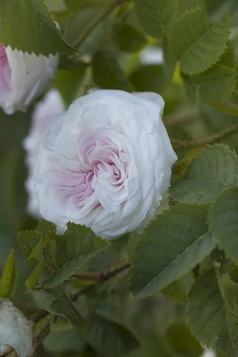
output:
<path id="1" fill-rule="evenodd" d="M 0 298 L 36 322 L 34 356 L 235 357 L 237 1 L 0 0 L 0 14 L 5 46 L 59 53 L 65 108 L 95 87 L 160 93 L 178 155 L 169 209 L 143 232 L 58 235 L 26 212 L 33 107 L 1 111 Z"/>

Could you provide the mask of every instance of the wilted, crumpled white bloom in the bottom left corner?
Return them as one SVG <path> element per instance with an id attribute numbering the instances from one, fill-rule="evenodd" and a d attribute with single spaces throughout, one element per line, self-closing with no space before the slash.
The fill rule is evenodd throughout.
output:
<path id="1" fill-rule="evenodd" d="M 9 299 L 0 299 L 1 356 L 5 356 L 14 350 L 19 357 L 30 357 L 33 327 L 34 323 L 28 321 Z"/>

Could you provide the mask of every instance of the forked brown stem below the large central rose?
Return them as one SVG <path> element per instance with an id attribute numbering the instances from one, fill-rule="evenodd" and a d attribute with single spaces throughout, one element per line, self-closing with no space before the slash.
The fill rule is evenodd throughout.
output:
<path id="1" fill-rule="evenodd" d="M 92 288 L 94 288 L 97 285 L 103 284 L 106 281 L 108 281 L 111 278 L 114 278 L 115 276 L 117 276 L 118 274 L 126 271 L 127 269 L 129 269 L 130 267 L 130 263 L 126 262 L 124 264 L 122 264 L 121 266 L 118 266 L 117 268 L 113 269 L 113 270 L 105 270 L 102 272 L 97 272 L 97 273 L 86 273 L 86 274 L 79 274 L 79 275 L 74 275 L 73 277 L 77 277 L 77 279 L 86 279 L 86 280 L 93 280 L 94 283 L 79 290 L 76 291 L 75 293 L 72 293 L 69 296 L 69 299 L 71 301 L 75 301 L 77 300 L 77 298 L 81 295 L 84 295 L 86 293 L 88 293 Z"/>

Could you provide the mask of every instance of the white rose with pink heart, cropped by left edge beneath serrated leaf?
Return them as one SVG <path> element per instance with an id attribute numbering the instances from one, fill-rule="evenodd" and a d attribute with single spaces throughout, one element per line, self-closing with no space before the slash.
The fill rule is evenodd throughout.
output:
<path id="1" fill-rule="evenodd" d="M 6 114 L 26 110 L 46 90 L 57 66 L 58 55 L 36 56 L 0 43 L 0 107 Z"/>

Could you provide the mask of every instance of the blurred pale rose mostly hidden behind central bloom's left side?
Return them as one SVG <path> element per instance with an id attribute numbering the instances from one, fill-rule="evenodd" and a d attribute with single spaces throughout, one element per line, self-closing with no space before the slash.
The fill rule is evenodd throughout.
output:
<path id="1" fill-rule="evenodd" d="M 32 125 L 23 146 L 26 150 L 28 177 L 25 187 L 28 192 L 27 211 L 36 218 L 40 217 L 38 200 L 34 191 L 33 173 L 41 140 L 50 122 L 56 114 L 64 110 L 64 104 L 58 91 L 50 90 L 43 100 L 36 104 L 32 113 Z"/>

